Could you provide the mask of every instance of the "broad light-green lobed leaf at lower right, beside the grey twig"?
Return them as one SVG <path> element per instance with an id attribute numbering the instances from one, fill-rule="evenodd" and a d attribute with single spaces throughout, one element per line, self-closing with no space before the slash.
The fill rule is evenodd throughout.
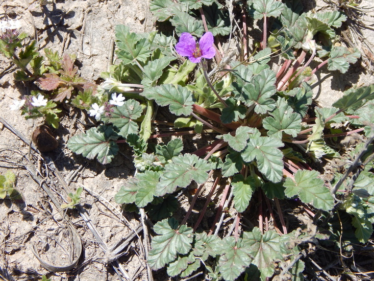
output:
<path id="1" fill-rule="evenodd" d="M 331 210 L 334 207 L 334 198 L 318 176 L 319 173 L 314 170 L 298 170 L 295 174 L 295 181 L 286 178 L 284 183 L 286 196 L 292 198 L 298 195 L 300 200 L 306 204 L 325 211 Z"/>

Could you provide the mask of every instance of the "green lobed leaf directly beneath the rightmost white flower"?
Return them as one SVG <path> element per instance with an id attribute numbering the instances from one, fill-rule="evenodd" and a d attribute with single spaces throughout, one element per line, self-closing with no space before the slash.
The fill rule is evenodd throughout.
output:
<path id="1" fill-rule="evenodd" d="M 124 101 L 121 106 L 115 106 L 109 117 L 103 117 L 105 124 L 113 124 L 118 129 L 118 134 L 126 138 L 129 134 L 137 134 L 139 126 L 134 122 L 143 112 L 143 108 L 136 100 Z"/>

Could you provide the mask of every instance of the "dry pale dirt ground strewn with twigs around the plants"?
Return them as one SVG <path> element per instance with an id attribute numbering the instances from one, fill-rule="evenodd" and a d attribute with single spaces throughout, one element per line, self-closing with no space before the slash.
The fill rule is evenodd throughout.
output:
<path id="1" fill-rule="evenodd" d="M 100 73 L 112 63 L 116 25 L 127 25 L 133 32 L 153 29 L 147 0 L 54 2 L 42 9 L 37 6 L 38 1 L 3 0 L 0 1 L 0 19 L 20 19 L 23 31 L 38 41 L 44 39 L 41 49 L 47 47 L 60 54 L 76 54 L 82 77 L 91 81 L 99 82 Z M 320 9 L 326 4 L 318 2 L 312 6 Z M 372 43 L 374 32 L 364 30 L 362 38 Z M 372 45 L 371 48 L 374 50 Z M 134 237 L 135 230 L 141 225 L 140 219 L 133 213 L 122 213 L 114 201 L 120 186 L 135 171 L 129 158 L 130 150 L 123 148 L 122 155 L 107 166 L 73 155 L 65 147 L 68 137 L 93 124 L 85 113 L 77 114 L 66 108 L 66 117 L 54 132 L 58 135 L 59 148 L 43 155 L 35 152 L 28 142 L 42 120 L 24 120 L 19 112 L 9 110 L 13 100 L 30 91 L 14 81 L 12 69 L 7 70 L 9 66 L 9 61 L 0 55 L 0 73 L 5 74 L 0 78 L 0 173 L 10 169 L 17 175 L 16 190 L 20 197 L 13 201 L 0 200 L 0 268 L 3 276 L 9 274 L 15 280 L 36 280 L 41 274 L 48 273 L 33 254 L 34 248 L 44 263 L 56 267 L 74 263 L 80 252 L 80 243 L 74 242 L 80 237 L 83 248 L 78 266 L 68 273 L 48 273 L 53 281 L 120 280 L 119 275 L 130 280 L 147 280 L 141 238 L 123 242 L 123 239 Z M 369 64 L 359 61 L 345 75 L 319 75 L 317 79 L 322 83 L 315 79 L 313 87 L 320 104 L 331 105 L 341 96 L 342 90 L 352 85 L 374 83 L 370 67 L 370 61 Z M 5 121 L 10 126 L 4 126 Z M 13 132 L 9 130 L 11 127 Z M 24 141 L 19 138 L 21 135 Z M 65 216 L 51 198 L 57 205 L 62 204 L 69 190 L 79 186 L 84 188 L 81 215 L 73 210 Z M 64 216 L 69 222 L 63 219 Z M 116 259 L 115 249 L 121 241 L 123 255 Z M 158 276 L 155 279 L 168 278 Z"/>

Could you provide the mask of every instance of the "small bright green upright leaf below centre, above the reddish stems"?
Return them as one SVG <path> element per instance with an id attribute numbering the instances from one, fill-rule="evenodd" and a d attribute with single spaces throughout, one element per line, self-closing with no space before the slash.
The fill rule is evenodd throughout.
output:
<path id="1" fill-rule="evenodd" d="M 243 175 L 235 175 L 231 185 L 233 186 L 235 208 L 239 213 L 242 213 L 250 204 L 252 194 L 256 190 L 255 179 L 250 176 L 244 179 Z"/>

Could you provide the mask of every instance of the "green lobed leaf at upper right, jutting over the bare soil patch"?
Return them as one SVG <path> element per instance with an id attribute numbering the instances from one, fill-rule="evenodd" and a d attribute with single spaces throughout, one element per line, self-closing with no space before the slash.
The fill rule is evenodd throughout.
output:
<path id="1" fill-rule="evenodd" d="M 329 71 L 338 70 L 346 73 L 350 68 L 350 63 L 356 63 L 361 57 L 361 53 L 357 48 L 346 48 L 344 46 L 336 46 L 330 52 L 330 58 L 327 60 Z"/>

